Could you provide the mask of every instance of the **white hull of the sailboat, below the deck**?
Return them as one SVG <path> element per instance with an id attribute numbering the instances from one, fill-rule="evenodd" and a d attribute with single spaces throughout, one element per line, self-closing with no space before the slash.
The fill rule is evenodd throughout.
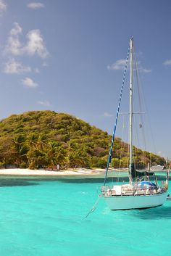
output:
<path id="1" fill-rule="evenodd" d="M 157 207 L 164 204 L 167 192 L 153 195 L 104 197 L 110 210 L 130 210 Z"/>

